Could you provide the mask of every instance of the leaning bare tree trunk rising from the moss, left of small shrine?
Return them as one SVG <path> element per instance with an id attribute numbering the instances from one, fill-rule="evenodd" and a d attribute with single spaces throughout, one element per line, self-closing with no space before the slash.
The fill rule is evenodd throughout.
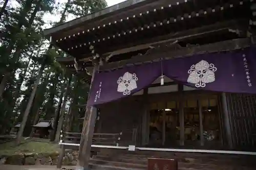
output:
<path id="1" fill-rule="evenodd" d="M 34 88 L 33 88 L 32 92 L 31 92 L 27 108 L 26 108 L 25 113 L 23 115 L 22 123 L 20 124 L 19 130 L 18 130 L 16 144 L 19 144 L 21 139 L 22 139 L 23 131 L 24 131 L 27 119 L 28 119 L 28 115 L 29 115 L 30 109 L 31 109 L 32 104 L 33 104 L 34 96 L 35 96 L 35 93 L 36 93 L 36 90 L 37 90 L 40 78 L 42 76 L 42 71 L 44 71 L 44 69 L 45 69 L 45 64 L 42 64 L 41 68 L 40 68 L 40 70 L 38 72 L 38 76 L 37 76 L 36 82 L 34 84 Z"/>

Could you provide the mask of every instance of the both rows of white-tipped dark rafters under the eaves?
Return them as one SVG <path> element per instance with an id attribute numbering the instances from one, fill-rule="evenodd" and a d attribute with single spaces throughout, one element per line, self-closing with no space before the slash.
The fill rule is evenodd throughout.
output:
<path id="1" fill-rule="evenodd" d="M 202 0 L 199 1 L 202 2 Z M 165 1 L 158 2 L 163 5 Z M 172 1 L 172 3 L 174 2 Z M 146 11 L 145 14 L 143 13 L 142 16 L 135 15 L 135 18 L 121 17 L 122 19 L 116 16 L 114 24 L 111 23 L 111 26 L 108 27 L 93 27 L 92 30 L 89 29 L 89 32 L 87 32 L 88 29 L 85 27 L 88 27 L 88 25 L 85 25 L 79 28 L 81 32 L 77 34 L 67 36 L 64 33 L 56 33 L 62 38 L 61 41 L 59 39 L 58 42 L 54 42 L 56 39 L 53 37 L 53 43 L 56 43 L 68 54 L 81 59 L 90 55 L 89 47 L 91 45 L 95 46 L 97 50 L 100 49 L 100 52 L 104 54 L 125 48 L 127 45 L 131 46 L 134 42 L 136 42 L 134 45 L 138 45 L 140 41 L 147 41 L 148 37 L 152 37 L 152 35 L 156 37 L 163 36 L 171 32 L 211 25 L 220 20 L 237 18 L 248 20 L 251 15 L 250 11 L 247 10 L 248 2 L 249 0 L 229 0 L 222 3 L 218 0 L 208 5 L 202 2 L 199 5 L 200 8 L 196 8 L 191 1 L 187 1 L 187 3 L 179 1 L 179 5 L 172 5 L 171 8 L 166 5 L 171 2 L 165 2 L 162 7 L 151 7 L 151 10 Z M 198 1 L 196 4 L 198 4 Z M 129 14 L 129 12 L 126 14 Z"/>

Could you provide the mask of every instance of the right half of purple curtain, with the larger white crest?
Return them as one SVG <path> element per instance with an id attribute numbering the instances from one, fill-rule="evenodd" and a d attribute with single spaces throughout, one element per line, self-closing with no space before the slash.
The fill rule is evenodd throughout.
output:
<path id="1" fill-rule="evenodd" d="M 164 61 L 164 75 L 190 87 L 256 93 L 255 48 Z"/>

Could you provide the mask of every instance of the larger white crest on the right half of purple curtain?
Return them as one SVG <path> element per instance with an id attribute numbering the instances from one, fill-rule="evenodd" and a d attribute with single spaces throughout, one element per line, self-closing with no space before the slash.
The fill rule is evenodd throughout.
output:
<path id="1" fill-rule="evenodd" d="M 214 64 L 209 64 L 205 60 L 201 60 L 196 65 L 193 64 L 188 70 L 188 83 L 193 83 L 198 87 L 205 87 L 206 83 L 211 83 L 215 81 L 215 71 L 217 68 Z"/>

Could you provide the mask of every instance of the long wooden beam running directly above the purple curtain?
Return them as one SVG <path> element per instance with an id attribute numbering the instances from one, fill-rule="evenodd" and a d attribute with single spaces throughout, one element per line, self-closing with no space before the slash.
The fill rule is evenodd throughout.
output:
<path id="1" fill-rule="evenodd" d="M 155 48 L 150 54 L 137 56 L 129 60 L 123 60 L 119 62 L 108 63 L 100 66 L 100 70 L 112 70 L 127 65 L 141 64 L 146 62 L 154 62 L 159 60 L 167 60 L 181 57 L 188 57 L 195 54 L 214 53 L 222 51 L 237 50 L 240 48 L 248 47 L 251 44 L 250 38 L 232 39 L 222 42 L 216 42 L 212 44 L 184 47 L 181 50 L 168 50 L 169 47 Z"/>

